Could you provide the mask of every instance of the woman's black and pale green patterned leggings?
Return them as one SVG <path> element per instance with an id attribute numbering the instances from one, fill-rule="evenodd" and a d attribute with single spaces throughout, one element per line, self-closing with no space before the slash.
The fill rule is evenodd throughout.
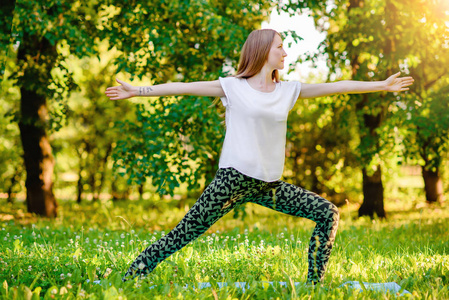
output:
<path id="1" fill-rule="evenodd" d="M 280 180 L 264 182 L 233 168 L 217 171 L 214 180 L 181 222 L 140 253 L 126 272 L 124 280 L 150 273 L 159 262 L 198 238 L 236 205 L 246 202 L 316 222 L 309 244 L 307 282 L 321 281 L 337 232 L 337 207 L 297 186 Z"/>

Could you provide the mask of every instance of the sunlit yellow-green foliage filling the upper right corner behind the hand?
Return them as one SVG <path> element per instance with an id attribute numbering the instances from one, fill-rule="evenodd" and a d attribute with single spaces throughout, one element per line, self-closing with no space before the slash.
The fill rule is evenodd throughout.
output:
<path id="1" fill-rule="evenodd" d="M 295 7 L 300 8 L 287 5 Z M 391 161 L 420 161 L 435 170 L 447 153 L 448 2 L 336 1 L 310 8 L 327 37 L 319 54 L 300 62 L 324 57 L 330 80 L 383 80 L 398 70 L 415 79 L 409 93 L 351 95 L 348 109 L 358 116 L 354 154 L 359 166 L 371 173 Z"/>

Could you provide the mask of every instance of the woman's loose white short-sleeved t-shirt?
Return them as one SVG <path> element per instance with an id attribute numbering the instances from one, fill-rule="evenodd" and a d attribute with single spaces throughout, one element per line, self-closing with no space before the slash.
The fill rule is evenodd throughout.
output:
<path id="1" fill-rule="evenodd" d="M 266 182 L 281 178 L 287 117 L 301 91 L 298 81 L 276 83 L 273 92 L 253 89 L 246 79 L 219 78 L 225 97 L 226 136 L 219 168 L 233 167 Z"/>

